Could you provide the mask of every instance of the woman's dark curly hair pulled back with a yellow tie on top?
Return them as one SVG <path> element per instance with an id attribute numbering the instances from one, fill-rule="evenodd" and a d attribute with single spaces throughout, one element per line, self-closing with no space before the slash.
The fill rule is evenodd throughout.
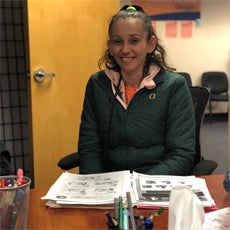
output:
<path id="1" fill-rule="evenodd" d="M 157 66 L 163 69 L 169 69 L 174 70 L 174 68 L 170 67 L 165 60 L 166 52 L 163 48 L 163 46 L 159 43 L 159 38 L 156 36 L 152 23 L 148 15 L 145 13 L 145 11 L 137 5 L 125 5 L 121 8 L 121 10 L 115 14 L 109 24 L 108 28 L 108 34 L 110 36 L 111 28 L 115 22 L 117 22 L 119 19 L 126 19 L 126 18 L 137 18 L 142 20 L 144 29 L 147 31 L 147 41 L 151 39 L 152 36 L 156 37 L 156 47 L 153 50 L 152 53 L 148 53 L 146 56 L 146 61 L 144 65 L 144 75 L 148 74 L 149 66 L 153 63 L 155 63 Z M 101 65 L 105 63 L 105 66 L 108 69 L 120 72 L 120 66 L 117 64 L 113 56 L 109 53 L 109 50 L 107 49 L 103 55 L 103 57 L 99 60 L 98 65 L 101 69 Z"/>

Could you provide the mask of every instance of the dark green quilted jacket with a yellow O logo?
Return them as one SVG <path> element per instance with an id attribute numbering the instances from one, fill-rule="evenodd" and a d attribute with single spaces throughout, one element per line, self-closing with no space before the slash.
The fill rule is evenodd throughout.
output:
<path id="1" fill-rule="evenodd" d="M 194 166 L 195 117 L 184 77 L 155 71 L 150 87 L 144 84 L 126 105 L 123 81 L 117 83 L 110 72 L 95 73 L 86 87 L 80 173 L 188 175 Z"/>

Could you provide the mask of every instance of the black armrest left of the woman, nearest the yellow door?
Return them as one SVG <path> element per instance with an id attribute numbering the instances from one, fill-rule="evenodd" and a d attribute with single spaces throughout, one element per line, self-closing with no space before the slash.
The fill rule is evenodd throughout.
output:
<path id="1" fill-rule="evenodd" d="M 79 153 L 78 152 L 74 152 L 71 153 L 65 157 L 63 157 L 59 162 L 58 162 L 58 167 L 60 167 L 63 170 L 70 170 L 73 169 L 75 167 L 79 166 Z"/>

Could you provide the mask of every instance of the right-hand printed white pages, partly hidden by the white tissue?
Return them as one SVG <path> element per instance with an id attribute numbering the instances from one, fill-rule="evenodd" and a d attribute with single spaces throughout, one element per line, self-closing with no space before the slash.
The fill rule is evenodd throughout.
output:
<path id="1" fill-rule="evenodd" d="M 215 205 L 206 182 L 195 176 L 145 175 L 133 172 L 135 202 L 143 206 L 169 206 L 170 192 L 174 186 L 184 185 L 192 189 L 203 207 Z"/>

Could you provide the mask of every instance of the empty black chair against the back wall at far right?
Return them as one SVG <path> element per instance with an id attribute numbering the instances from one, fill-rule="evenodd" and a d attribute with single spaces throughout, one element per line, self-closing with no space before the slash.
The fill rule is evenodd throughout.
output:
<path id="1" fill-rule="evenodd" d="M 209 118 L 212 121 L 212 102 L 229 101 L 228 95 L 228 77 L 224 72 L 209 71 L 201 76 L 202 86 L 210 90 L 209 98 Z"/>

